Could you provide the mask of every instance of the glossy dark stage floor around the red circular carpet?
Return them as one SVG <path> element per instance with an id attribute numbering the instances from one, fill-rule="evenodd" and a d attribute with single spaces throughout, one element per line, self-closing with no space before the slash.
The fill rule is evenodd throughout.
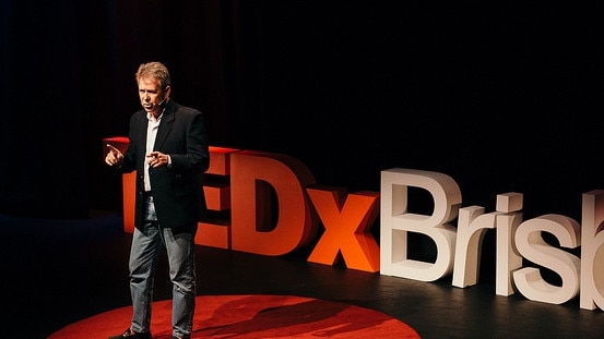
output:
<path id="1" fill-rule="evenodd" d="M 60 328 L 130 304 L 131 234 L 118 215 L 87 220 L 0 215 L 1 338 L 46 338 Z M 166 265 L 155 299 L 170 298 Z M 422 338 L 604 338 L 604 313 L 495 294 L 490 282 L 459 289 L 451 278 L 421 282 L 307 263 L 198 247 L 199 294 L 287 294 L 346 302 L 389 314 Z M 165 278 L 162 278 L 165 277 Z M 203 307 L 203 305 L 199 305 Z M 129 319 L 123 319 L 123 327 Z"/>

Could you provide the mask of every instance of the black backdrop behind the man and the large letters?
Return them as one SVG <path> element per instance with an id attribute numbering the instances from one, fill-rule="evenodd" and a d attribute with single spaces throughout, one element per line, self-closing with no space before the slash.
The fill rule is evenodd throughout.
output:
<path id="1" fill-rule="evenodd" d="M 0 211 L 119 209 L 102 140 L 158 60 L 214 146 L 275 152 L 320 184 L 449 174 L 462 206 L 524 193 L 580 220 L 604 189 L 597 4 L 481 1 L 2 1 Z"/>

